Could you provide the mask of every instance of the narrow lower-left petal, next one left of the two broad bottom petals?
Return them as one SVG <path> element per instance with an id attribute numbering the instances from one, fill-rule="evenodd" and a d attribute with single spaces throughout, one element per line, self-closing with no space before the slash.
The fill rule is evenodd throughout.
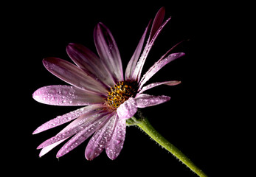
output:
<path id="1" fill-rule="evenodd" d="M 74 137 L 72 137 L 72 139 L 69 140 L 69 142 L 66 142 L 66 144 L 60 148 L 60 150 L 57 153 L 57 157 L 69 153 L 82 142 L 86 141 L 86 139 L 88 139 L 89 136 L 91 136 L 91 134 L 94 133 L 97 130 L 97 128 L 99 128 L 99 126 L 102 125 L 102 123 L 105 122 L 105 119 L 107 119 L 108 117 L 109 116 L 107 114 L 105 117 L 102 117 L 101 119 L 98 119 L 96 122 L 91 123 L 89 126 L 84 128 L 83 131 L 78 132 Z"/>

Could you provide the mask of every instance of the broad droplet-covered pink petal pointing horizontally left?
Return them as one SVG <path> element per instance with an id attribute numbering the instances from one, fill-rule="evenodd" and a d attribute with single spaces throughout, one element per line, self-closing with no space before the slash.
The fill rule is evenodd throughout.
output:
<path id="1" fill-rule="evenodd" d="M 39 103 L 48 105 L 92 105 L 104 103 L 103 97 L 74 86 L 44 86 L 34 92 L 32 97 Z"/>

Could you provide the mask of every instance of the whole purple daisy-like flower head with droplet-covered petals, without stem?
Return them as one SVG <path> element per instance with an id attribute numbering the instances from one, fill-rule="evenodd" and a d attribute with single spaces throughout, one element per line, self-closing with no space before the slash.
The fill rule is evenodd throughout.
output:
<path id="1" fill-rule="evenodd" d="M 49 105 L 85 105 L 38 127 L 33 134 L 46 131 L 58 125 L 72 121 L 66 128 L 52 138 L 46 140 L 38 149 L 39 156 L 61 142 L 69 139 L 57 153 L 63 156 L 93 135 L 86 147 L 86 159 L 92 160 L 105 149 L 110 159 L 116 159 L 125 141 L 125 120 L 134 116 L 137 108 L 158 105 L 170 100 L 165 95 L 153 96 L 144 91 L 160 85 L 174 86 L 180 81 L 172 80 L 159 83 L 145 83 L 167 63 L 181 57 L 184 53 L 172 53 L 170 49 L 142 76 L 142 67 L 151 50 L 156 37 L 161 32 L 164 22 L 165 8 L 162 7 L 153 20 L 151 31 L 145 48 L 142 46 L 148 27 L 142 35 L 138 46 L 125 70 L 122 71 L 122 60 L 117 44 L 110 30 L 99 23 L 94 29 L 94 43 L 98 56 L 80 44 L 69 44 L 66 52 L 75 63 L 60 58 L 45 58 L 46 69 L 71 86 L 44 86 L 34 92 L 32 97 Z"/>

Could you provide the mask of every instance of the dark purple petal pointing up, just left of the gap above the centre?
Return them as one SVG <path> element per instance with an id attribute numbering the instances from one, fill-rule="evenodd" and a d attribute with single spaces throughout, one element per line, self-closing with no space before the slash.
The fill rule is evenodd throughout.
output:
<path id="1" fill-rule="evenodd" d="M 122 81 L 123 73 L 120 52 L 110 30 L 102 23 L 97 24 L 94 29 L 94 43 L 100 59 L 103 60 L 115 83 Z"/>

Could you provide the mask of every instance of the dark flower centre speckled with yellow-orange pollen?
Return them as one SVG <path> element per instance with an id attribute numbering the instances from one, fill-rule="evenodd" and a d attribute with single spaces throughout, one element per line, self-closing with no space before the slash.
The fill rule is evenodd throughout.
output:
<path id="1" fill-rule="evenodd" d="M 118 108 L 122 103 L 129 99 L 129 97 L 135 97 L 137 90 L 137 83 L 131 81 L 121 81 L 111 88 L 108 92 L 107 104 L 111 108 Z"/>

